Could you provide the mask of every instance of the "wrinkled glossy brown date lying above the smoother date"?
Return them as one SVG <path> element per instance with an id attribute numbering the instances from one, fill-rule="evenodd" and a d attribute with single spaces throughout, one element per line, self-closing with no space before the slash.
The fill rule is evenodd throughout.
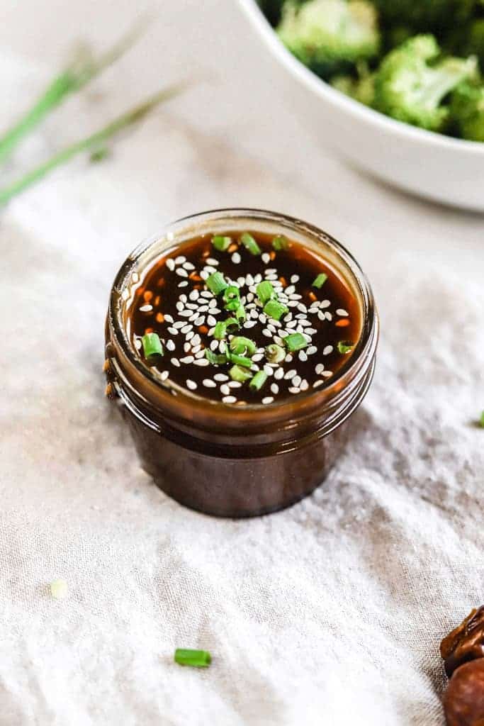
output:
<path id="1" fill-rule="evenodd" d="M 450 678 L 464 663 L 484 656 L 484 605 L 472 610 L 467 618 L 440 643 L 446 674 Z"/>

